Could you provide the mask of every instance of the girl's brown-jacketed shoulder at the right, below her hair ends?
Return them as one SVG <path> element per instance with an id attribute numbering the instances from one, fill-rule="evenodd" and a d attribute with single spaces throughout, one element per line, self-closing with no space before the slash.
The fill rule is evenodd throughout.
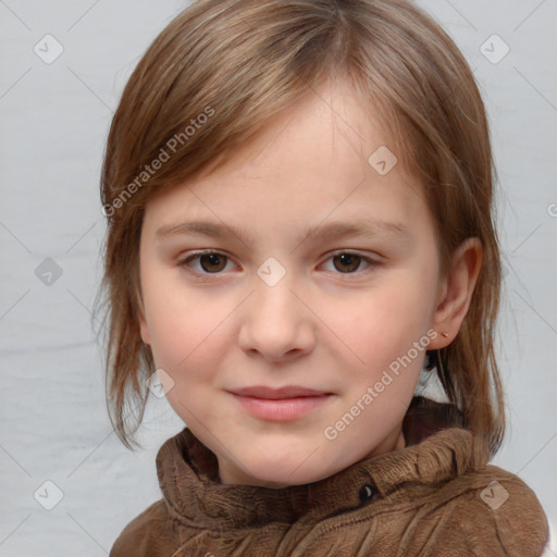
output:
<path id="1" fill-rule="evenodd" d="M 444 555 L 447 549 L 454 550 L 450 555 L 542 555 L 549 534 L 547 518 L 519 476 L 487 465 L 453 480 L 438 495 L 443 504 L 434 512 L 437 528 L 431 555 L 442 548 Z"/>

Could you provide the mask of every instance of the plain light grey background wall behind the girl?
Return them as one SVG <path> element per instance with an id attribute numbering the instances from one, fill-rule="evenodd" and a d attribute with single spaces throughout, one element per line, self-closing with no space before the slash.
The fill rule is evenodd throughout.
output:
<path id="1" fill-rule="evenodd" d="M 494 463 L 518 473 L 555 524 L 557 1 L 420 3 L 474 69 L 500 176 L 499 361 L 510 426 Z M 1 557 L 107 555 L 124 525 L 160 498 L 154 457 L 183 424 L 152 397 L 139 436 L 146 449 L 123 447 L 106 411 L 90 310 L 110 120 L 141 53 L 185 5 L 0 0 Z M 55 53 L 47 34 L 63 47 L 50 64 L 34 52 L 38 44 L 44 57 Z M 509 53 L 493 63 L 505 45 Z M 36 274 L 47 258 L 62 272 L 51 285 Z M 61 491 L 52 510 L 38 503 L 57 500 L 46 481 Z"/>

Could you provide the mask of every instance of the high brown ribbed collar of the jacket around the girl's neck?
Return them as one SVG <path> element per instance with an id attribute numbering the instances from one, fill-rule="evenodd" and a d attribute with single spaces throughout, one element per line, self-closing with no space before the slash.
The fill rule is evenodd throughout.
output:
<path id="1" fill-rule="evenodd" d="M 318 482 L 274 490 L 220 483 L 215 455 L 184 428 L 159 449 L 157 473 L 171 515 L 190 527 L 225 532 L 301 517 L 317 521 L 360 506 L 363 488 L 386 496 L 401 483 L 438 484 L 488 460 L 451 405 L 414 397 L 403 431 L 405 448 Z"/>

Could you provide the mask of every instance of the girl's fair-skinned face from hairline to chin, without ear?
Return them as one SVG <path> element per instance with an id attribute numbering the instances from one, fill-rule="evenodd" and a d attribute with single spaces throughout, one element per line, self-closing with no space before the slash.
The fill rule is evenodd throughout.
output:
<path id="1" fill-rule="evenodd" d="M 224 483 L 309 483 L 405 446 L 401 421 L 437 335 L 440 262 L 420 185 L 401 164 L 380 175 L 368 162 L 382 145 L 338 81 L 226 166 L 147 206 L 141 336 Z M 157 234 L 193 221 L 242 233 Z M 370 232 L 307 235 L 333 224 Z M 202 249 L 218 256 L 182 264 Z M 249 405 L 231 393 L 253 386 L 325 395 Z"/>

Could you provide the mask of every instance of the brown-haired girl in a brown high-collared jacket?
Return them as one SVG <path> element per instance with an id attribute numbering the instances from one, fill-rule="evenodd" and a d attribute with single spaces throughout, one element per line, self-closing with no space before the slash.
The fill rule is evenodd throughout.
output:
<path id="1" fill-rule="evenodd" d="M 539 556 L 504 437 L 485 110 L 405 0 L 200 0 L 102 172 L 108 400 L 187 424 L 111 557 Z M 438 377 L 445 399 L 416 396 Z"/>

